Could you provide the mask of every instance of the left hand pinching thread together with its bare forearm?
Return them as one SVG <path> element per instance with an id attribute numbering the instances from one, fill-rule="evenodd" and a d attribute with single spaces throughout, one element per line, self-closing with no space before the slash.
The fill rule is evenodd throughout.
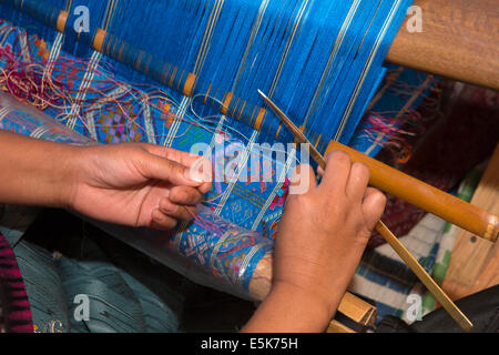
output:
<path id="1" fill-rule="evenodd" d="M 210 161 L 159 145 L 73 146 L 0 130 L 0 152 L 1 203 L 111 223 L 173 229 L 211 189 Z"/>

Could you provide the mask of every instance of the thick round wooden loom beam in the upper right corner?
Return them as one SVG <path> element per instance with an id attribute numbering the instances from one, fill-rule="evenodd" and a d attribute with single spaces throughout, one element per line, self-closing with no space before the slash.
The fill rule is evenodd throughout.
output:
<path id="1" fill-rule="evenodd" d="M 407 21 L 386 60 L 457 81 L 499 90 L 499 6 L 497 0 L 416 0 L 422 32 Z"/>

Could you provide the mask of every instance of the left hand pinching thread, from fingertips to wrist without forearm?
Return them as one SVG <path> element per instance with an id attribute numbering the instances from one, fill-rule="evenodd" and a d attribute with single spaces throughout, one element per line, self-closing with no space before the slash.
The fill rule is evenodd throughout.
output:
<path id="1" fill-rule="evenodd" d="M 81 148 L 75 162 L 70 207 L 111 223 L 171 230 L 211 189 L 210 162 L 159 145 Z"/>

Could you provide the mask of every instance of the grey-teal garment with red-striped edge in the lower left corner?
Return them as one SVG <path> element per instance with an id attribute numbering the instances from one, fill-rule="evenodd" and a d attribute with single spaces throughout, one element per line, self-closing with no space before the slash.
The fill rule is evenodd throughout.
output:
<path id="1" fill-rule="evenodd" d="M 0 224 L 14 224 L 8 223 L 9 216 L 16 216 L 12 210 L 8 209 Z M 49 225 L 60 226 L 60 222 L 52 221 Z M 79 225 L 75 220 L 72 222 Z M 9 316 L 7 331 L 170 333 L 179 329 L 182 300 L 179 291 L 169 285 L 174 277 L 165 275 L 159 267 L 143 266 L 147 263 L 139 263 L 144 257 L 138 252 L 116 254 L 121 248 L 113 244 L 111 261 L 88 239 L 68 232 L 51 237 L 41 231 L 40 242 L 55 241 L 54 245 L 65 252 L 62 255 L 26 240 L 27 232 L 21 224 L 17 230 L 4 224 L 2 230 L 11 236 L 21 235 L 16 239 L 13 248 L 0 235 L 0 284 L 7 286 L 2 287 L 9 296 L 7 301 L 17 310 L 11 312 L 3 307 L 9 311 L 3 314 Z M 31 230 L 35 226 L 37 223 L 31 224 L 29 233 L 33 234 Z M 130 260 L 135 261 L 134 265 L 130 265 Z M 121 266 L 116 267 L 116 264 Z M 19 268 L 12 265 L 19 265 Z M 92 300 L 88 320 L 75 317 L 80 314 L 81 295 Z"/>

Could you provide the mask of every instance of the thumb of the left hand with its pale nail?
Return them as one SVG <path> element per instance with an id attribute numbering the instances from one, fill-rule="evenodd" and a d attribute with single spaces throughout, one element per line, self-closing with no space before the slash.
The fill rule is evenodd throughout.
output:
<path id="1" fill-rule="evenodd" d="M 147 179 L 169 181 L 175 185 L 193 187 L 203 183 L 203 176 L 195 170 L 154 154 L 147 154 L 147 159 L 141 160 L 141 165 L 142 173 Z"/>

